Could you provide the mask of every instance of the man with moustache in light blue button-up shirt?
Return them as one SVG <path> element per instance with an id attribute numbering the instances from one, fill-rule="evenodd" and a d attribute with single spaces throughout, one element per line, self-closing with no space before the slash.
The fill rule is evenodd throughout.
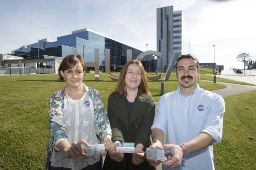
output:
<path id="1" fill-rule="evenodd" d="M 214 170 L 213 144 L 222 139 L 224 100 L 199 87 L 199 61 L 193 55 L 178 57 L 176 70 L 180 86 L 158 102 L 151 148 L 169 152 L 163 170 Z M 160 163 L 148 161 L 154 166 Z"/>

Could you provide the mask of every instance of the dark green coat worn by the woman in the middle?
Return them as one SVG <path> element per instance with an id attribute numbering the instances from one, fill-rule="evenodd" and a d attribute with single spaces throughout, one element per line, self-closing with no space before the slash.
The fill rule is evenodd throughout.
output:
<path id="1" fill-rule="evenodd" d="M 112 141 L 134 142 L 144 145 L 144 151 L 151 145 L 149 136 L 155 116 L 155 101 L 152 95 L 137 94 L 131 113 L 128 111 L 125 95 L 110 96 L 107 116 L 112 129 Z M 126 167 L 126 168 L 125 168 Z M 147 161 L 134 165 L 132 154 L 124 154 L 123 161 L 117 162 L 106 156 L 103 170 L 154 170 Z"/>

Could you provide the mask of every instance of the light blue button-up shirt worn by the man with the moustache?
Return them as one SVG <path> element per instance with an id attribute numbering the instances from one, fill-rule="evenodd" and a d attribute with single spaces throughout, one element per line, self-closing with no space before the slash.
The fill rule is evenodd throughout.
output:
<path id="1" fill-rule="evenodd" d="M 222 138 L 224 112 L 225 103 L 220 95 L 203 90 L 197 85 L 186 97 L 178 88 L 160 98 L 151 129 L 161 129 L 167 144 L 185 143 L 201 132 L 210 134 L 215 143 L 219 143 Z M 179 168 L 167 168 L 163 165 L 162 169 L 214 170 L 213 145 L 188 154 Z"/>

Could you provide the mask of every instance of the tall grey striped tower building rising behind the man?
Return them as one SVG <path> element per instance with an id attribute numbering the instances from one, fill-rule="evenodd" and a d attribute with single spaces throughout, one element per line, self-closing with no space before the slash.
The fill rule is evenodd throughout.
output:
<path id="1" fill-rule="evenodd" d="M 190 43 L 185 30 L 185 22 L 181 11 L 174 11 L 173 6 L 156 9 L 157 18 L 157 51 L 161 58 L 157 59 L 157 71 L 165 73 L 174 52 L 190 53 Z"/>

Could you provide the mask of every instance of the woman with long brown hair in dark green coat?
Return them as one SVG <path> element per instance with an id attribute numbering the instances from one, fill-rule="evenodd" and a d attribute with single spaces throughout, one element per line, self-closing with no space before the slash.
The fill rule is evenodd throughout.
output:
<path id="1" fill-rule="evenodd" d="M 142 63 L 128 61 L 122 68 L 118 84 L 110 94 L 107 115 L 112 129 L 114 151 L 108 152 L 103 170 L 155 170 L 145 161 L 145 150 L 151 145 L 151 125 L 155 102 L 148 91 Z M 117 143 L 135 143 L 133 153 L 117 151 Z"/>

